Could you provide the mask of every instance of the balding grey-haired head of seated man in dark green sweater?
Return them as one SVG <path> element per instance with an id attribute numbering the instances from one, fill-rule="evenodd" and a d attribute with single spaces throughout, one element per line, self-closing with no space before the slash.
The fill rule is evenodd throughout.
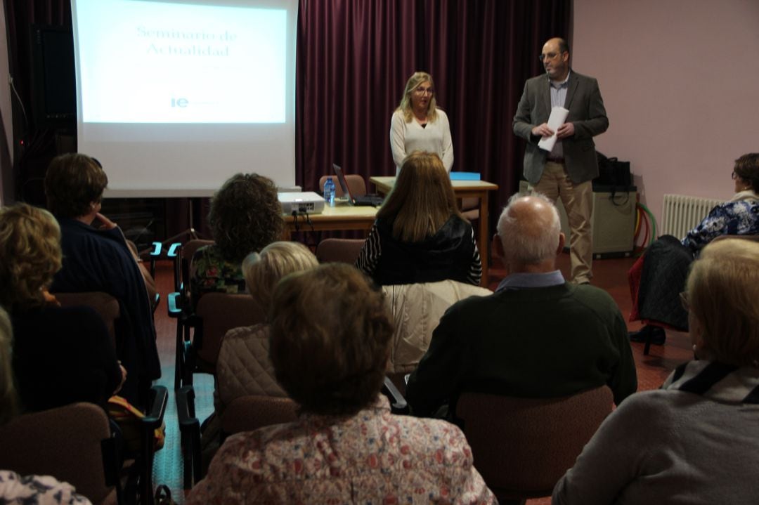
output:
<path id="1" fill-rule="evenodd" d="M 501 212 L 498 235 L 503 246 L 503 259 L 512 267 L 543 262 L 553 265 L 562 240 L 559 212 L 539 193 L 514 195 Z"/>

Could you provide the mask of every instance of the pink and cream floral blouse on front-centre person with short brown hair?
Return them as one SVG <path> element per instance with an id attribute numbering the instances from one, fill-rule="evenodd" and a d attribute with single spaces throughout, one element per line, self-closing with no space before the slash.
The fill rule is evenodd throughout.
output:
<path id="1" fill-rule="evenodd" d="M 456 426 L 395 416 L 381 396 L 350 418 L 304 414 L 227 438 L 187 503 L 497 502 Z"/>

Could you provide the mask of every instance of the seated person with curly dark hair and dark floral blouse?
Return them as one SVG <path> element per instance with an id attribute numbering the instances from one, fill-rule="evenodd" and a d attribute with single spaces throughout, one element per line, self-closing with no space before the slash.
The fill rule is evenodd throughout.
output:
<path id="1" fill-rule="evenodd" d="M 203 293 L 244 293 L 242 260 L 282 236 L 285 221 L 277 188 L 258 174 L 236 174 L 211 199 L 213 243 L 195 252 L 190 271 L 194 304 Z"/>

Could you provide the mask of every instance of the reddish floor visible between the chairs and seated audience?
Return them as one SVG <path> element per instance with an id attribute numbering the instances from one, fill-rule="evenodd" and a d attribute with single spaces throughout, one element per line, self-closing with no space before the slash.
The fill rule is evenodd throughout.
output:
<path id="1" fill-rule="evenodd" d="M 627 271 L 634 262 L 631 258 L 603 259 L 594 262 L 595 278 L 593 284 L 608 291 L 619 304 L 622 314 L 627 317 L 631 308 L 630 293 L 627 284 Z M 568 275 L 569 256 L 559 256 L 559 268 L 565 276 Z M 490 270 L 490 288 L 494 289 L 503 275 L 498 265 Z M 156 281 L 161 293 L 162 303 L 156 311 L 156 331 L 158 332 L 159 353 L 163 363 L 163 378 L 160 383 L 173 390 L 174 381 L 174 350 L 175 350 L 175 321 L 166 314 L 166 294 L 172 290 L 172 270 L 168 262 L 159 263 Z M 635 331 L 640 323 L 628 323 L 628 329 Z M 666 345 L 652 346 L 649 356 L 643 356 L 643 344 L 633 343 L 632 350 L 635 363 L 638 366 L 638 391 L 659 387 L 669 372 L 677 365 L 692 357 L 691 343 L 688 334 L 668 331 Z M 197 416 L 205 419 L 213 412 L 213 379 L 207 375 L 196 375 L 194 379 L 196 390 Z M 181 452 L 179 449 L 179 434 L 176 420 L 175 402 L 169 399 L 166 412 L 166 445 L 156 456 L 154 477 L 156 483 L 168 485 L 178 503 L 182 502 L 181 491 Z M 528 505 L 543 505 L 550 503 L 550 498 L 528 500 Z"/>

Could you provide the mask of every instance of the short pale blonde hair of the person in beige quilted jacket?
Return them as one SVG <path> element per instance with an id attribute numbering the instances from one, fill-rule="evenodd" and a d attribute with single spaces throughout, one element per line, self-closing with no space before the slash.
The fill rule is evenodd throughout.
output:
<path id="1" fill-rule="evenodd" d="M 247 255 L 242 262 L 242 273 L 250 296 L 266 312 L 281 278 L 317 265 L 317 257 L 302 243 L 273 242 L 260 253 Z"/>

